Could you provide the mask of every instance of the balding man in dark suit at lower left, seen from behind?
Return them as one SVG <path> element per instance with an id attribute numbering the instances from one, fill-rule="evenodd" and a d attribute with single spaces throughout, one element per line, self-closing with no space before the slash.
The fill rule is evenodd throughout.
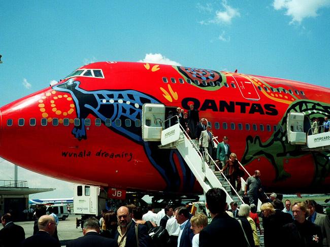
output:
<path id="1" fill-rule="evenodd" d="M 54 217 L 49 215 L 43 215 L 38 219 L 39 231 L 26 238 L 22 242 L 22 247 L 30 246 L 47 246 L 47 247 L 60 247 L 60 243 L 57 239 L 52 237 L 56 229 L 56 222 Z M 67 245 L 68 246 L 68 245 Z"/>

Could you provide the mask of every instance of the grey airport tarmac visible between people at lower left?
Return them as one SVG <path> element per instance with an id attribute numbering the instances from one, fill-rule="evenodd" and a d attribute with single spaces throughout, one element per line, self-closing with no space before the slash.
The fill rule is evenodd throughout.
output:
<path id="1" fill-rule="evenodd" d="M 79 216 L 77 217 L 79 218 Z M 57 235 L 61 246 L 65 246 L 65 244 L 72 239 L 83 236 L 82 228 L 76 228 L 77 217 L 72 214 L 69 215 L 69 218 L 67 218 L 65 221 L 59 220 L 57 226 Z M 34 221 L 15 222 L 15 224 L 24 228 L 25 238 L 33 235 Z M 3 229 L 3 226 L 0 224 L 0 230 L 1 229 Z"/>

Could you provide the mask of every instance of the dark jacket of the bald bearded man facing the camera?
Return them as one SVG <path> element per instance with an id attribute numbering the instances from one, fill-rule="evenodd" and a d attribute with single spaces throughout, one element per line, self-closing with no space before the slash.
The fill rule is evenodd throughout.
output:
<path id="1" fill-rule="evenodd" d="M 126 235 L 126 245 L 125 247 L 136 247 L 138 246 L 137 237 L 135 234 L 135 222 L 132 221 Z M 118 243 L 119 232 L 116 231 L 115 241 Z M 150 244 L 150 237 L 148 235 L 147 227 L 143 224 L 138 224 L 138 237 L 139 237 L 139 247 L 147 247 Z"/>

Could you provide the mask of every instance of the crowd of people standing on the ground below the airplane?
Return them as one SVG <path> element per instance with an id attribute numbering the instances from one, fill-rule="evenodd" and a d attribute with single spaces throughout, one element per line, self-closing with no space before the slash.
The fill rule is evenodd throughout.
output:
<path id="1" fill-rule="evenodd" d="M 232 202 L 228 209 L 225 191 L 210 189 L 205 196 L 210 223 L 203 213 L 192 215 L 188 206 L 173 208 L 168 205 L 157 214 L 152 206 L 144 211 L 134 204 L 120 206 L 116 211 L 104 209 L 100 220 L 95 217 L 86 219 L 83 236 L 69 241 L 67 246 L 197 247 L 218 243 L 252 247 L 260 246 L 259 234 L 264 234 L 266 247 L 330 246 L 329 217 L 314 200 L 293 205 L 290 200 L 285 200 L 284 205 L 276 197 L 272 193 L 269 202 L 261 205 L 258 215 L 253 203 L 238 208 L 238 204 Z M 43 213 L 43 208 L 36 211 L 38 219 L 34 235 L 26 239 L 24 229 L 13 223 L 11 215 L 3 215 L 0 246 L 60 246 L 56 236 L 56 217 Z"/>

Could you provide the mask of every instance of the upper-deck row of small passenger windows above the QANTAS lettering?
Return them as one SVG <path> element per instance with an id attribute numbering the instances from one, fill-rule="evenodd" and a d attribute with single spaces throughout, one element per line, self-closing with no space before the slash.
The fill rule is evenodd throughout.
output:
<path id="1" fill-rule="evenodd" d="M 173 77 L 170 78 L 170 80 L 171 80 L 172 83 L 177 83 L 176 79 L 173 78 Z M 169 80 L 168 80 L 167 77 L 163 77 L 163 78 L 162 78 L 162 81 L 163 81 L 164 83 L 169 83 Z M 184 83 L 184 80 L 183 80 L 182 78 L 179 78 L 179 83 L 183 84 L 183 83 Z M 188 84 L 192 84 L 192 83 L 194 83 L 194 84 L 196 84 L 196 85 L 200 85 L 200 84 L 201 84 L 199 80 L 193 80 L 193 81 L 192 81 L 192 80 L 190 80 L 190 79 L 187 79 L 187 83 L 188 83 Z M 208 85 L 208 83 L 207 83 L 206 81 L 202 81 L 202 84 L 203 84 L 204 86 L 207 86 L 207 85 Z M 214 86 L 216 86 L 216 85 L 218 85 L 219 87 L 221 87 L 221 82 L 218 82 L 218 81 L 217 81 L 217 82 L 209 81 L 209 84 L 210 84 L 210 86 L 212 86 L 212 87 L 214 87 Z M 225 87 L 229 87 L 228 83 L 226 83 L 226 82 L 224 82 L 223 85 L 224 85 Z M 230 83 L 230 86 L 231 86 L 232 88 L 236 88 L 236 84 L 235 84 L 234 82 Z M 259 89 L 259 91 L 262 91 L 261 86 L 258 86 L 258 89 Z M 278 92 L 278 93 L 283 92 L 283 93 L 290 93 L 290 94 L 293 94 L 293 91 L 292 91 L 291 89 L 286 90 L 286 89 L 282 88 L 282 90 L 281 90 L 281 89 L 279 89 L 279 88 L 273 88 L 273 87 L 270 87 L 270 89 L 269 89 L 269 88 L 266 87 L 266 86 L 263 86 L 263 89 L 265 89 L 266 92 L 272 91 L 272 92 L 274 92 L 274 93 L 275 93 L 275 92 Z M 302 90 L 298 91 L 298 90 L 294 89 L 294 93 L 295 93 L 296 95 L 299 95 L 299 93 L 302 94 L 302 95 L 305 95 L 304 91 L 302 91 Z"/>

